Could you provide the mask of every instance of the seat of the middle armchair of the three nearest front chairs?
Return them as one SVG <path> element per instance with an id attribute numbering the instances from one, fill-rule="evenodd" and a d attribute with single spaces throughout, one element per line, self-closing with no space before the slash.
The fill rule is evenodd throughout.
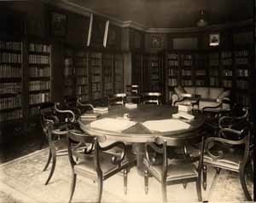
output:
<path id="1" fill-rule="evenodd" d="M 144 159 L 145 164 L 147 161 L 148 161 L 147 159 Z M 196 178 L 198 176 L 195 165 L 191 163 L 184 162 L 183 164 L 178 164 L 178 165 L 171 164 L 171 165 L 168 165 L 167 170 L 168 170 L 167 177 L 166 177 L 167 182 L 180 180 L 180 179 L 193 178 L 193 177 Z M 158 180 L 161 181 L 161 174 L 163 173 L 162 165 L 150 165 L 148 167 L 148 171 L 150 171 L 150 173 L 154 175 L 154 177 L 156 177 Z"/>

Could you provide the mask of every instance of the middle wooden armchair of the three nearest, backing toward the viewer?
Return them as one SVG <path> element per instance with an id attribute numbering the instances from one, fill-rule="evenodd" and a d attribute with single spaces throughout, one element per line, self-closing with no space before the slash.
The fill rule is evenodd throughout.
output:
<path id="1" fill-rule="evenodd" d="M 146 144 L 146 158 L 143 160 L 146 167 L 144 174 L 146 194 L 148 194 L 148 175 L 150 174 L 161 183 L 163 202 L 167 201 L 167 185 L 183 183 L 183 187 L 185 188 L 189 182 L 196 183 L 198 200 L 201 201 L 201 169 L 204 136 L 201 133 L 198 133 L 198 136 L 192 135 L 193 132 L 190 138 L 188 136 L 185 139 L 162 136 L 158 137 L 155 143 Z M 184 147 L 201 141 L 200 157 L 199 155 L 192 156 L 189 154 L 188 148 Z M 173 147 L 184 148 L 184 154 L 172 154 L 171 156 L 169 152 Z M 197 160 L 199 160 L 199 165 L 196 168 L 194 163 Z"/>

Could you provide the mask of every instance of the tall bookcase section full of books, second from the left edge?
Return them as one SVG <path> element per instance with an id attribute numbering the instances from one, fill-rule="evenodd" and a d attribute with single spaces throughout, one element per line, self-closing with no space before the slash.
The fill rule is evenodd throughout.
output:
<path id="1" fill-rule="evenodd" d="M 29 116 L 38 114 L 38 106 L 51 100 L 51 46 L 28 44 Z"/>

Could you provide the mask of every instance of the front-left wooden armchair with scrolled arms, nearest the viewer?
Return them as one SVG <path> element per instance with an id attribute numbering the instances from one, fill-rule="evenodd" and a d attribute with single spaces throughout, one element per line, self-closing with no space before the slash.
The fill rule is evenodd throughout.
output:
<path id="1" fill-rule="evenodd" d="M 102 200 L 103 181 L 113 177 L 119 171 L 123 171 L 126 194 L 127 173 L 135 162 L 127 158 L 126 147 L 123 142 L 113 142 L 102 147 L 99 142 L 103 142 L 105 139 L 105 136 L 96 137 L 85 135 L 81 131 L 68 131 L 67 148 L 72 167 L 71 192 L 68 202 L 71 202 L 73 198 L 77 175 L 91 178 L 98 183 L 96 202 L 100 202 Z M 73 146 L 73 142 L 79 142 L 79 148 L 76 145 Z M 83 150 L 81 150 L 82 146 L 85 146 Z M 119 154 L 108 153 L 108 150 L 116 147 L 122 149 Z M 74 157 L 78 158 L 78 161 L 75 161 Z"/>

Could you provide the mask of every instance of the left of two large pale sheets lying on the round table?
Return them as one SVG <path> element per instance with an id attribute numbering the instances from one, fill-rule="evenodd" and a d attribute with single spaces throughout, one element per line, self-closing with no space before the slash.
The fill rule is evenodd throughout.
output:
<path id="1" fill-rule="evenodd" d="M 103 131 L 125 131 L 125 129 L 130 128 L 132 125 L 137 123 L 128 119 L 98 119 L 90 123 L 91 128 L 100 129 Z"/>

